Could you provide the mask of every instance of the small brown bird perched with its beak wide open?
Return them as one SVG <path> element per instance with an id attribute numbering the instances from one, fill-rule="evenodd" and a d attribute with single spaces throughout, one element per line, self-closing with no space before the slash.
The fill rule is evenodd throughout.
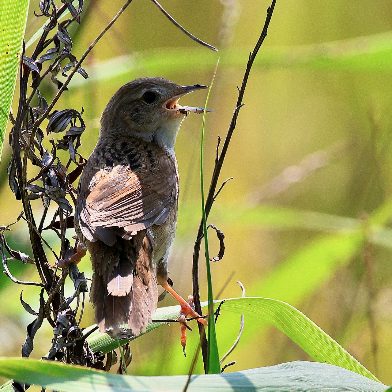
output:
<path id="1" fill-rule="evenodd" d="M 183 325 L 183 316 L 199 316 L 168 284 L 167 259 L 177 226 L 174 143 L 187 113 L 204 111 L 178 100 L 205 88 L 136 79 L 102 113 L 75 211 L 76 234 L 91 254 L 90 299 L 101 332 L 114 337 L 144 332 L 156 309 L 157 283 L 180 303 Z"/>

